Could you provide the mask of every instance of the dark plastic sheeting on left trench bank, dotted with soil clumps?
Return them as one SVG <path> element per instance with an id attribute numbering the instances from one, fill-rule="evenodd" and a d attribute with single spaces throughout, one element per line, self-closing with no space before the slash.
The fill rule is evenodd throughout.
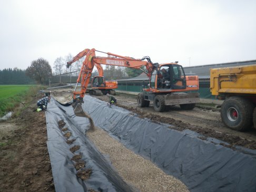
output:
<path id="1" fill-rule="evenodd" d="M 136 191 L 123 181 L 115 168 L 84 135 L 90 127 L 87 118 L 75 116 L 71 106 L 62 106 L 54 99 L 48 104 L 45 114 L 47 148 L 56 191 Z M 68 130 L 65 132 L 59 128 L 60 120 L 66 123 L 63 128 Z M 75 139 L 71 145 L 66 143 L 65 133 L 71 133 L 68 140 Z M 80 149 L 72 153 L 70 148 L 74 146 L 80 146 Z M 72 157 L 79 154 L 82 156 L 81 160 L 85 161 L 84 170 L 92 169 L 89 179 L 82 180 L 76 175 L 75 161 Z"/>

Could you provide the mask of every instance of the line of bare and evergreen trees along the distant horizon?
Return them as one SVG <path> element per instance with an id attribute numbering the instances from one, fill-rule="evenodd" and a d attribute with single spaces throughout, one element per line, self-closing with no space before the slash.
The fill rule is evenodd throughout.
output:
<path id="1" fill-rule="evenodd" d="M 66 57 L 57 57 L 54 61 L 52 70 L 49 62 L 44 58 L 38 58 L 31 62 L 31 65 L 26 70 L 14 68 L 0 70 L 0 84 L 49 84 L 52 76 L 60 76 L 60 83 L 62 76 L 77 76 L 83 64 L 83 58 L 77 60 L 70 68 L 66 68 L 66 63 L 71 60 L 71 54 Z M 95 67 L 96 69 L 96 67 Z M 74 73 L 72 73 L 74 72 Z M 104 69 L 104 76 L 106 80 L 116 80 L 122 78 L 132 78 L 140 75 L 141 70 L 132 69 L 129 67 L 119 67 L 106 65 Z M 94 70 L 92 76 L 99 75 L 97 70 Z"/>

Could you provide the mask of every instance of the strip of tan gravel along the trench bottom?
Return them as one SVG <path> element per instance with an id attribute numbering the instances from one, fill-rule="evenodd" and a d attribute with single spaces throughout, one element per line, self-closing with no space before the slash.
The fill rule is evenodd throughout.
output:
<path id="1" fill-rule="evenodd" d="M 102 154 L 110 156 L 112 165 L 126 183 L 135 186 L 141 192 L 189 191 L 180 180 L 166 175 L 150 160 L 146 160 L 125 148 L 104 130 L 96 127 L 94 132 L 87 132 L 86 134 Z"/>

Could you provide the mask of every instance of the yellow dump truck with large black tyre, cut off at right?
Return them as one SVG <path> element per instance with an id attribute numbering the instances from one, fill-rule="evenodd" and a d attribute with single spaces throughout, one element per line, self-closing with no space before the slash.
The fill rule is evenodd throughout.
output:
<path id="1" fill-rule="evenodd" d="M 224 100 L 225 126 L 238 131 L 256 128 L 256 65 L 210 69 L 210 90 Z"/>

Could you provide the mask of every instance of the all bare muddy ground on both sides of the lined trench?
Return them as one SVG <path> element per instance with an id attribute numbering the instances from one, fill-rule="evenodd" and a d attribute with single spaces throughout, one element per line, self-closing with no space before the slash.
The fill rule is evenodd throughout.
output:
<path id="1" fill-rule="evenodd" d="M 37 94 L 17 117 L 0 122 L 0 191 L 54 191 L 44 113 L 35 112 Z M 106 96 L 94 96 L 107 101 Z M 190 129 L 202 134 L 201 139 L 213 137 L 234 145 L 256 149 L 256 129 L 235 132 L 225 128 L 216 108 L 195 107 L 155 112 L 153 106 L 136 107 L 136 96 L 118 94 L 117 105 L 131 110 L 141 118 L 155 123 L 170 124 L 176 130 Z M 135 185 L 135 184 L 134 184 Z"/>

